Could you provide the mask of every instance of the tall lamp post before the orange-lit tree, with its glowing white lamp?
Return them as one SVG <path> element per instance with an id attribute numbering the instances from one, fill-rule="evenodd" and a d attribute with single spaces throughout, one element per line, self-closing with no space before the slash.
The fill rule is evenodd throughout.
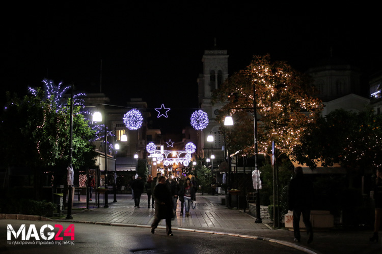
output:
<path id="1" fill-rule="evenodd" d="M 258 168 L 257 168 L 257 113 L 256 113 L 257 103 L 256 103 L 256 84 L 253 86 L 253 125 L 254 125 L 254 148 L 255 148 L 255 173 L 258 177 L 260 177 Z M 224 119 L 224 125 L 233 125 L 233 120 L 231 116 L 226 116 Z M 256 220 L 255 223 L 261 223 L 262 219 L 260 217 L 260 189 L 259 189 L 259 181 L 257 181 L 256 188 Z"/>

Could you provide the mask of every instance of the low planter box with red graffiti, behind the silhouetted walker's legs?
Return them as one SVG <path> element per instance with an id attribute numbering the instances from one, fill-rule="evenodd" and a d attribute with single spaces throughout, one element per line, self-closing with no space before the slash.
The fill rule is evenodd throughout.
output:
<path id="1" fill-rule="evenodd" d="M 285 228 L 289 230 L 293 230 L 293 212 L 288 211 L 287 214 L 284 215 L 285 219 Z M 310 221 L 312 223 L 313 229 L 330 229 L 334 227 L 334 216 L 330 214 L 330 211 L 316 211 L 312 210 L 310 212 Z M 303 215 L 300 217 L 300 229 L 305 229 L 305 225 L 303 222 Z"/>

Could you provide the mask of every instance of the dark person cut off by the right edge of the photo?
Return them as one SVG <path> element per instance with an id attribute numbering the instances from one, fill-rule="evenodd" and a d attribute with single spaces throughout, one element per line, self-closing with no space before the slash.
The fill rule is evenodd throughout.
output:
<path id="1" fill-rule="evenodd" d="M 378 242 L 378 231 L 380 221 L 382 219 L 382 168 L 378 167 L 373 188 L 372 197 L 375 201 L 375 221 L 374 221 L 374 234 L 370 237 L 371 242 Z"/>

